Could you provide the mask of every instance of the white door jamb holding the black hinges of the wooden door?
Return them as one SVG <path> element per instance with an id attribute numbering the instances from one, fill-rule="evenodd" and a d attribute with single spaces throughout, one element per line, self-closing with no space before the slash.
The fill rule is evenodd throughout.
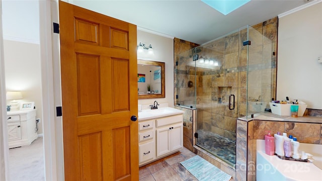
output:
<path id="1" fill-rule="evenodd" d="M 39 1 L 45 180 L 64 179 L 62 119 L 56 117 L 61 106 L 59 34 L 52 30 L 58 20 L 58 2 Z"/>

